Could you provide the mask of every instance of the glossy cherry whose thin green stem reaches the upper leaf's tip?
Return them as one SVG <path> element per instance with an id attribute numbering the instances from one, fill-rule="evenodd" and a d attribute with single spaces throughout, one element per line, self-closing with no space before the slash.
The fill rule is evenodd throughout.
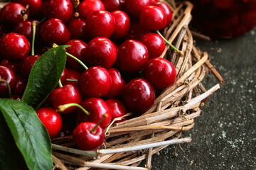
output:
<path id="1" fill-rule="evenodd" d="M 78 86 L 87 97 L 105 96 L 111 86 L 110 73 L 104 67 L 90 67 L 82 72 Z"/>

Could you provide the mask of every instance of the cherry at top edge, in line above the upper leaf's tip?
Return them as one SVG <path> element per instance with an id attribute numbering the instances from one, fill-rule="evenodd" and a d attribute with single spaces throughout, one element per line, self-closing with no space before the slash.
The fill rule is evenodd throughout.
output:
<path id="1" fill-rule="evenodd" d="M 58 18 L 68 23 L 73 16 L 73 4 L 70 0 L 50 0 L 46 3 L 46 18 Z"/>

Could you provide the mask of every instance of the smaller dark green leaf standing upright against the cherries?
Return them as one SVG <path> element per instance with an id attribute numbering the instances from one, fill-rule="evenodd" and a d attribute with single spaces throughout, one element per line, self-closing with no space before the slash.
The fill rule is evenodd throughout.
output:
<path id="1" fill-rule="evenodd" d="M 65 67 L 65 47 L 53 47 L 36 60 L 21 101 L 38 108 L 53 91 Z"/>

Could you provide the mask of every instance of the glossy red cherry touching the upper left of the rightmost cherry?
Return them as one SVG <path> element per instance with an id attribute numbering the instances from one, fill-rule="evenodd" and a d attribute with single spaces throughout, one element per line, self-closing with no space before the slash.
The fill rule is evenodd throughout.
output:
<path id="1" fill-rule="evenodd" d="M 127 40 L 117 50 L 117 67 L 123 72 L 138 72 L 149 59 L 146 46 L 137 40 Z"/>

